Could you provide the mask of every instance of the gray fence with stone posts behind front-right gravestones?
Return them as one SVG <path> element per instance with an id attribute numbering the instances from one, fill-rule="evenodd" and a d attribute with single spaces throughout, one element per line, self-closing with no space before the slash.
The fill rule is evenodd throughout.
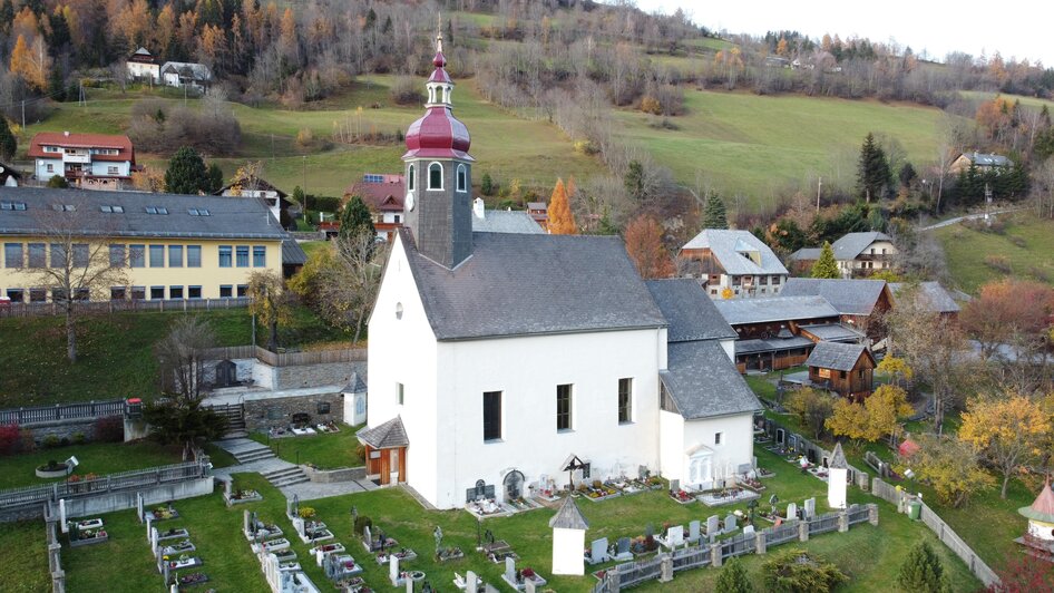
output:
<path id="1" fill-rule="evenodd" d="M 624 589 L 661 579 L 664 563 L 670 563 L 665 575 L 665 580 L 670 580 L 673 573 L 680 571 L 711 564 L 721 565 L 729 558 L 744 554 L 764 554 L 772 546 L 806 538 L 806 534 L 811 536 L 845 531 L 865 522 L 878 524 L 877 505 L 852 505 L 848 511 L 828 513 L 804 522 L 790 521 L 779 526 L 767 527 L 753 535 L 741 533 L 713 544 L 702 543 L 696 547 L 674 550 L 670 554 L 658 554 L 646 561 L 630 562 L 609 568 L 593 586 L 593 593 L 617 593 Z"/>

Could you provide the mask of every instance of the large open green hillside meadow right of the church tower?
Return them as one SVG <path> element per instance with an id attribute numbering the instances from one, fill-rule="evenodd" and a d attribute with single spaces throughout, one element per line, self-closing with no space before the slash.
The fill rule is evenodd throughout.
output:
<path id="1" fill-rule="evenodd" d="M 910 161 L 928 162 L 943 117 L 913 104 L 709 90 L 686 90 L 684 105 L 686 115 L 670 118 L 680 129 L 654 128 L 651 116 L 621 110 L 618 133 L 643 145 L 677 181 L 694 187 L 700 174 L 722 195 L 743 195 L 754 207 L 816 175 L 824 185 L 852 185 L 869 132 L 899 140 Z"/>

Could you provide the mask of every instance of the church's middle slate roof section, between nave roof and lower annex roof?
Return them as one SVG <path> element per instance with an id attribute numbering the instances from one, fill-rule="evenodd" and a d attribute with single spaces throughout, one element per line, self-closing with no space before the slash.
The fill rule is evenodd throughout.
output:
<path id="1" fill-rule="evenodd" d="M 645 284 L 670 323 L 667 343 L 735 338 L 735 330 L 695 280 L 650 280 Z"/>

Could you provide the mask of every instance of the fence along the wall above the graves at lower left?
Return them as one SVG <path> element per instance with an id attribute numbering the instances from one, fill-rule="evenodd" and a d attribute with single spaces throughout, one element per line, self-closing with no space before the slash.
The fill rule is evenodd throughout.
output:
<path id="1" fill-rule="evenodd" d="M 155 486 L 158 484 L 187 482 L 207 475 L 208 461 L 207 459 L 202 459 L 198 461 L 166 465 L 150 469 L 121 472 L 119 474 L 110 474 L 94 479 L 56 482 L 47 486 L 12 488 L 9 490 L 0 490 L 0 511 L 43 504 L 49 500 L 57 502 L 60 498 L 82 498 L 111 492 Z"/>

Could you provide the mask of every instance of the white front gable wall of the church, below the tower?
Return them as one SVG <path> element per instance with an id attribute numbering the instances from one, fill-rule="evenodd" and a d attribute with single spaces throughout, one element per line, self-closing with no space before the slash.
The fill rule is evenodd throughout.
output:
<path id="1" fill-rule="evenodd" d="M 397 319 L 397 304 L 402 317 Z M 368 362 L 369 411 L 373 427 L 402 416 L 410 439 L 407 449 L 408 482 L 424 498 L 436 503 L 437 440 L 437 347 L 424 305 L 410 272 L 402 239 L 392 245 L 377 304 L 370 317 Z M 446 370 L 446 369 L 445 369 Z M 398 404 L 397 383 L 404 386 L 404 405 Z"/>

